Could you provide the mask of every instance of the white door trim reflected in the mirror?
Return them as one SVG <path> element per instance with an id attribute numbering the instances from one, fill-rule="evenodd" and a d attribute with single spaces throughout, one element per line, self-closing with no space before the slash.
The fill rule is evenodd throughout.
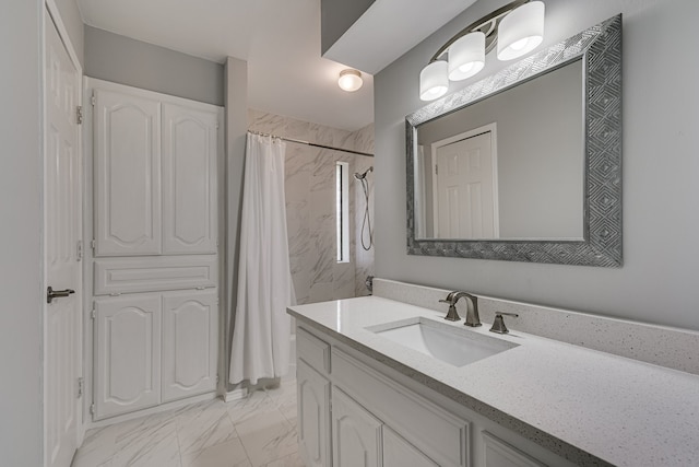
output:
<path id="1" fill-rule="evenodd" d="M 457 141 L 462 141 L 469 138 L 476 137 L 483 133 L 490 133 L 490 153 L 491 153 L 491 166 L 493 166 L 493 235 L 494 238 L 500 237 L 500 200 L 498 197 L 498 124 L 491 122 L 484 125 L 473 130 L 464 131 L 463 133 L 454 135 L 449 138 L 445 138 L 439 141 L 435 141 L 430 144 L 433 155 L 433 221 L 434 221 L 434 237 L 439 238 L 439 194 L 437 192 L 437 150 L 447 144 L 451 144 Z"/>

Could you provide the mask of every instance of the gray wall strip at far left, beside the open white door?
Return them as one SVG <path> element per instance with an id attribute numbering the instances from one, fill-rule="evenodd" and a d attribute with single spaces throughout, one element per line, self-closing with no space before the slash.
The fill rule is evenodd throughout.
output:
<path id="1" fill-rule="evenodd" d="M 43 4 L 13 1 L 0 14 L 0 464 L 7 466 L 42 465 Z"/>

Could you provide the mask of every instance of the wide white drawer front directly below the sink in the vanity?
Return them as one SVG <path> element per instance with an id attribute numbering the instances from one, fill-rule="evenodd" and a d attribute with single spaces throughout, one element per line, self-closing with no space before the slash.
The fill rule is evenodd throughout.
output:
<path id="1" fill-rule="evenodd" d="M 336 385 L 437 464 L 470 465 L 470 422 L 336 348 L 332 349 L 332 369 Z"/>

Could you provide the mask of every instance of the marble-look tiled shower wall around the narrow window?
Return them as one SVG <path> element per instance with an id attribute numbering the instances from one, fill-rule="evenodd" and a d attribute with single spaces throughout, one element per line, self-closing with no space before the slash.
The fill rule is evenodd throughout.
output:
<path id="1" fill-rule="evenodd" d="M 374 151 L 374 125 L 346 131 L 248 109 L 249 129 L 355 151 Z M 350 262 L 336 262 L 335 163 L 350 172 Z M 292 278 L 299 304 L 366 295 L 364 280 L 374 270 L 374 250 L 360 247 L 364 195 L 352 174 L 372 165 L 372 157 L 287 142 L 286 221 Z M 372 175 L 369 175 L 372 186 Z M 362 197 L 362 198 L 359 198 Z M 372 194 L 371 194 L 371 220 Z M 359 224 L 357 224 L 359 221 Z"/>

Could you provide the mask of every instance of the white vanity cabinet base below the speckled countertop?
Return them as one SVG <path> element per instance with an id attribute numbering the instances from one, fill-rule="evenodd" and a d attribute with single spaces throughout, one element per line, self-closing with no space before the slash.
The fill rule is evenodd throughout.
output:
<path id="1" fill-rule="evenodd" d="M 299 452 L 308 466 L 573 466 L 303 323 L 296 345 Z"/>

